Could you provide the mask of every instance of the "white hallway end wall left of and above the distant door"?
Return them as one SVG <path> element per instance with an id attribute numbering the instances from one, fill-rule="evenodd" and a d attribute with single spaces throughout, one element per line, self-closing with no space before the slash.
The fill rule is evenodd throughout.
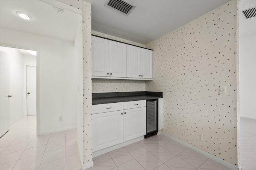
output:
<path id="1" fill-rule="evenodd" d="M 27 87 L 27 79 L 26 79 L 26 66 L 36 66 L 36 56 L 32 55 L 22 55 L 23 60 L 23 113 L 24 116 L 27 116 L 27 94 L 26 94 L 26 87 Z"/>

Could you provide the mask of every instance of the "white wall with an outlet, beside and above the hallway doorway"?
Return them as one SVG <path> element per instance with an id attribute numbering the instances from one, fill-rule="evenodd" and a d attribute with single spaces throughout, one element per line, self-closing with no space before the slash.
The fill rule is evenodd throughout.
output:
<path id="1" fill-rule="evenodd" d="M 5 28 L 0 29 L 0 36 L 0 45 L 37 51 L 38 135 L 75 128 L 78 87 L 74 42 Z M 63 121 L 58 121 L 59 116 Z"/>

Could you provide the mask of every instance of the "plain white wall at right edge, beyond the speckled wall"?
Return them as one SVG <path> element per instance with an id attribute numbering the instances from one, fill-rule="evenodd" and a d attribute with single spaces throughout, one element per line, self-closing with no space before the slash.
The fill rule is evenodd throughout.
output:
<path id="1" fill-rule="evenodd" d="M 256 119 L 256 35 L 240 37 L 240 116 Z"/>

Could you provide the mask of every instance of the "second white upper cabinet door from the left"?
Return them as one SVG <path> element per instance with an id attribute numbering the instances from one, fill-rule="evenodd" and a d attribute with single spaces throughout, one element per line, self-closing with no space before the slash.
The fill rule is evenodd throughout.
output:
<path id="1" fill-rule="evenodd" d="M 126 44 L 109 41 L 109 76 L 126 77 Z"/>

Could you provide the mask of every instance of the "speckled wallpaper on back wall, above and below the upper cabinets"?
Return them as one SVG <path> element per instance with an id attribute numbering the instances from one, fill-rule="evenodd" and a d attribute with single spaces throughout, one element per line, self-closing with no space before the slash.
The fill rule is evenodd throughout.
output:
<path id="1" fill-rule="evenodd" d="M 140 43 L 114 37 L 112 35 L 100 33 L 92 30 L 92 35 L 98 35 L 120 41 L 123 43 L 129 43 L 139 47 L 145 47 Z M 106 93 L 106 92 L 140 92 L 145 91 L 145 80 L 114 80 L 114 79 L 92 79 L 92 93 Z"/>

